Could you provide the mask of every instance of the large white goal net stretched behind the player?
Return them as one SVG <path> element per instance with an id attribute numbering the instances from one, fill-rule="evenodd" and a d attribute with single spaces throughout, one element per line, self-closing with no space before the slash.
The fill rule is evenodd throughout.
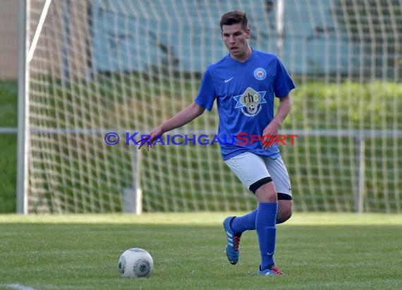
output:
<path id="1" fill-rule="evenodd" d="M 198 139 L 216 134 L 216 105 L 169 132 L 181 145 L 134 141 L 193 101 L 235 9 L 297 85 L 280 131 L 298 135 L 281 145 L 295 210 L 400 213 L 399 0 L 26 0 L 20 212 L 255 208 Z"/>

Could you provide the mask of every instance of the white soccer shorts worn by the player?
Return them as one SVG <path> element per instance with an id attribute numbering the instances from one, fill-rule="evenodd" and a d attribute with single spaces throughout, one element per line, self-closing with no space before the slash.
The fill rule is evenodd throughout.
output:
<path id="1" fill-rule="evenodd" d="M 269 158 L 245 152 L 226 160 L 225 163 L 247 189 L 250 189 L 250 186 L 260 179 L 271 177 L 276 192 L 292 195 L 288 170 L 280 156 L 279 158 Z"/>

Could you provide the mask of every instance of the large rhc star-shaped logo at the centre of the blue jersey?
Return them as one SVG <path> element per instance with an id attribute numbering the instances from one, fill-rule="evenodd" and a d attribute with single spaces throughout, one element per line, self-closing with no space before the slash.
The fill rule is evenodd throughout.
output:
<path id="1" fill-rule="evenodd" d="M 264 96 L 267 92 L 257 92 L 255 89 L 248 87 L 243 94 L 233 96 L 236 100 L 235 108 L 240 108 L 241 112 L 248 116 L 254 117 L 261 111 L 261 104 L 267 103 Z"/>

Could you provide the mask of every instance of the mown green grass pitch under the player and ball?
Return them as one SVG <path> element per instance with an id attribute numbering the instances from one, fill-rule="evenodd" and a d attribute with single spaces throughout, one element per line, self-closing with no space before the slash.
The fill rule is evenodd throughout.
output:
<path id="1" fill-rule="evenodd" d="M 255 232 L 229 264 L 226 215 L 0 215 L 0 289 L 401 289 L 402 215 L 295 213 L 277 231 L 285 277 L 255 275 Z M 150 278 L 120 277 L 132 247 L 152 254 Z"/>

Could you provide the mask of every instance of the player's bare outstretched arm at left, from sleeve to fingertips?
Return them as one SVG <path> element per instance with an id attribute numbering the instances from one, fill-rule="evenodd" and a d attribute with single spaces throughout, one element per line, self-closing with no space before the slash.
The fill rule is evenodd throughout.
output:
<path id="1" fill-rule="evenodd" d="M 178 112 L 172 118 L 164 121 L 161 125 L 152 130 L 147 139 L 142 139 L 140 141 L 140 146 L 138 146 L 138 149 L 141 149 L 144 144 L 147 144 L 147 150 L 150 150 L 151 144 L 157 139 L 158 136 L 162 136 L 166 132 L 184 126 L 185 124 L 197 118 L 199 115 L 202 115 L 204 111 L 204 107 L 193 101 L 193 103 L 190 103 L 189 106 L 183 108 L 183 110 Z"/>

